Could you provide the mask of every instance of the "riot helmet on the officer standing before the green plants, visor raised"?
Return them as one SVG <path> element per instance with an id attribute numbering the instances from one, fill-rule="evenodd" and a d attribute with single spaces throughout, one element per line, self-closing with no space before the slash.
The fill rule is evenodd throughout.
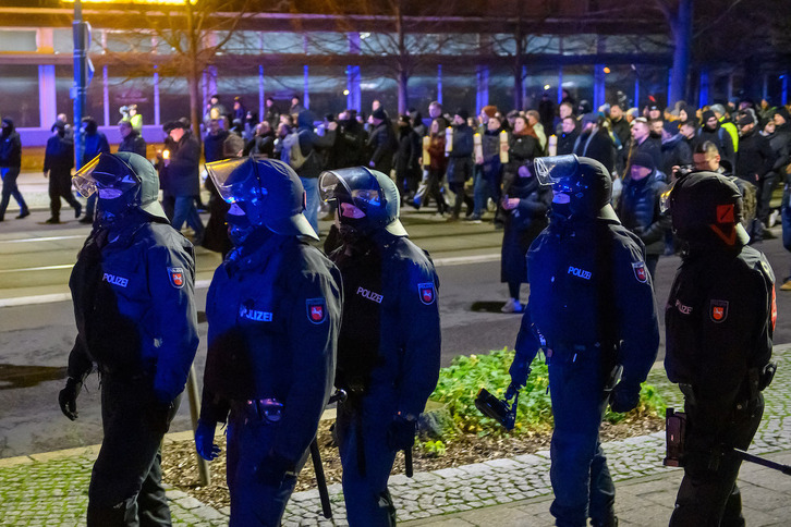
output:
<path id="1" fill-rule="evenodd" d="M 537 158 L 534 164 L 538 182 L 552 187 L 553 209 L 568 207 L 568 217 L 619 221 L 610 205 L 612 179 L 604 164 L 573 154 Z"/>

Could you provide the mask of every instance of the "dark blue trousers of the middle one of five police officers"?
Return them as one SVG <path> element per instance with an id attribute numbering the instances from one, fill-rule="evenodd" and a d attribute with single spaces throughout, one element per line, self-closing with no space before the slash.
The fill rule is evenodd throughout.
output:
<path id="1" fill-rule="evenodd" d="M 350 397 L 338 404 L 336 433 L 350 527 L 396 525 L 396 507 L 387 489 L 396 461 L 396 451 L 387 446 L 387 430 L 396 405 L 394 393 Z"/>

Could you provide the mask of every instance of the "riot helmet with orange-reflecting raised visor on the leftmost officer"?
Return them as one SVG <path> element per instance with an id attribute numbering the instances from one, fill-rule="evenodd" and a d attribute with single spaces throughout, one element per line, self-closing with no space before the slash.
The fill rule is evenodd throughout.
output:
<path id="1" fill-rule="evenodd" d="M 134 208 L 167 220 L 158 200 L 157 171 L 137 154 L 99 154 L 74 174 L 72 183 L 83 197 L 97 194 L 99 218 L 105 221 L 113 221 Z"/>

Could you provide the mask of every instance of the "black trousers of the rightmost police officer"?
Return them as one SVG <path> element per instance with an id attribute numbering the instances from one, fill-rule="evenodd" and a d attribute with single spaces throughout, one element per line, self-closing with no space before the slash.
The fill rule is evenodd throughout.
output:
<path id="1" fill-rule="evenodd" d="M 671 527 L 743 526 L 742 498 L 737 486 L 742 459 L 732 450 L 746 450 L 764 415 L 764 397 L 758 395 L 745 412 L 722 415 L 720 430 L 695 426 L 698 407 L 684 404 L 686 412 L 686 454 L 684 479 L 676 498 Z M 729 415 L 730 414 L 730 415 Z M 711 444 L 715 440 L 721 444 Z M 711 448 L 714 446 L 714 451 Z"/>

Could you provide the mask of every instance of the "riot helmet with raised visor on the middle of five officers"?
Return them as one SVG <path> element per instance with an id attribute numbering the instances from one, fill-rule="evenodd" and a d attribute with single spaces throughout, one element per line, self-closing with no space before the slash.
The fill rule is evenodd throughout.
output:
<path id="1" fill-rule="evenodd" d="M 365 167 L 329 170 L 318 180 L 321 199 L 337 201 L 341 226 L 363 235 L 385 229 L 396 236 L 407 236 L 399 220 L 401 197 L 390 177 Z"/>

